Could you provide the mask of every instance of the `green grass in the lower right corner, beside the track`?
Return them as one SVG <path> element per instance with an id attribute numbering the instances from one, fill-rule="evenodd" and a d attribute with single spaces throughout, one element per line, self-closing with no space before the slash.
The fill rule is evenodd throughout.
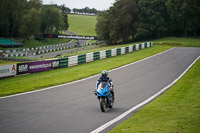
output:
<path id="1" fill-rule="evenodd" d="M 199 133 L 200 60 L 163 95 L 110 133 Z"/>

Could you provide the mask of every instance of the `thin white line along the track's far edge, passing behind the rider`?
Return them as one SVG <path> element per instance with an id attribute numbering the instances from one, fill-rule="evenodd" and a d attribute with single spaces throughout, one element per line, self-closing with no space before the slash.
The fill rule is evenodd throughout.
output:
<path id="1" fill-rule="evenodd" d="M 149 58 L 153 58 L 153 57 L 158 56 L 158 55 L 160 55 L 160 54 L 166 53 L 166 52 L 168 52 L 168 51 L 170 51 L 170 50 L 172 50 L 172 49 L 174 49 L 174 48 L 171 48 L 171 49 L 168 49 L 168 50 L 163 51 L 163 52 L 161 52 L 161 53 L 158 53 L 158 54 L 156 54 L 156 55 L 153 55 L 153 56 L 150 56 L 150 57 L 147 57 L 147 58 L 141 59 L 141 60 L 139 60 L 139 61 L 136 61 L 136 62 L 133 62 L 133 63 L 127 64 L 127 65 L 121 66 L 121 67 L 119 67 L 119 68 L 112 69 L 112 70 L 110 70 L 109 72 L 111 72 L 111 71 L 115 71 L 115 70 L 118 70 L 118 69 L 121 69 L 121 68 L 124 68 L 124 67 L 127 67 L 127 66 L 130 66 L 130 65 L 133 65 L 133 64 L 136 64 L 136 63 L 142 62 L 142 61 L 145 61 L 145 60 L 147 60 L 147 59 L 149 59 Z M 99 76 L 99 75 L 100 75 L 100 74 L 97 74 L 97 75 L 94 75 L 94 76 L 91 76 L 91 77 L 88 77 L 88 78 L 85 78 L 85 79 L 81 79 L 81 80 L 73 81 L 73 82 L 66 83 L 66 84 L 56 85 L 56 86 L 52 86 L 52 87 L 48 87 L 48 88 L 44 88 L 44 89 L 40 89 L 40 90 L 29 91 L 29 92 L 24 92 L 24 93 L 19 93 L 19 94 L 10 95 L 10 96 L 0 97 L 0 100 L 1 100 L 1 99 L 5 99 L 5 98 L 10 98 L 10 97 L 21 96 L 21 95 L 25 95 L 25 94 L 30 94 L 30 93 L 40 92 L 40 91 L 46 91 L 46 90 L 50 90 L 50 89 L 53 89 L 53 88 L 56 88 L 56 87 L 62 87 L 62 86 L 66 86 L 66 85 L 70 85 L 70 84 L 78 83 L 78 82 L 81 82 L 81 81 L 84 81 L 84 80 L 88 80 L 88 79 L 91 79 L 91 78 L 97 77 L 97 76 Z"/>

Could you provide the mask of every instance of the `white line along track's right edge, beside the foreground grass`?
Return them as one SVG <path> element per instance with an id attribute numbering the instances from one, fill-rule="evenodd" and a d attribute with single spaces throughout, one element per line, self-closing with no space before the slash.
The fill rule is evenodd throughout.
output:
<path id="1" fill-rule="evenodd" d="M 90 132 L 90 133 L 99 133 L 101 131 L 103 131 L 104 129 L 106 129 L 107 127 L 109 127 L 110 125 L 114 124 L 115 122 L 121 120 L 122 118 L 124 118 L 125 116 L 127 116 L 128 114 L 130 114 L 131 112 L 135 111 L 136 109 L 144 106 L 145 104 L 149 103 L 150 101 L 152 101 L 153 99 L 155 99 L 156 97 L 158 97 L 159 95 L 161 95 L 163 92 L 165 92 L 167 89 L 169 89 L 172 85 L 174 85 L 180 78 L 183 77 L 183 75 L 185 75 L 185 73 L 197 62 L 197 60 L 200 58 L 197 57 L 197 59 L 177 78 L 175 79 L 171 84 L 169 84 L 168 86 L 166 86 L 165 88 L 163 88 L 162 90 L 160 90 L 159 92 L 157 92 L 156 94 L 154 94 L 153 96 L 149 97 L 148 99 L 146 99 L 145 101 L 143 101 L 142 103 L 132 107 L 131 109 L 129 109 L 128 111 L 126 111 L 125 113 L 121 114 L 120 116 L 116 117 L 115 119 L 107 122 L 106 124 L 100 126 L 99 128 L 95 129 L 94 131 Z"/>

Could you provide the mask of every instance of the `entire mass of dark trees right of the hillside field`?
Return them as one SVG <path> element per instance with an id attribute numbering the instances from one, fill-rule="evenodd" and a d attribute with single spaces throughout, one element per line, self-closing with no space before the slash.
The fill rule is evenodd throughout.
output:
<path id="1" fill-rule="evenodd" d="M 199 0 L 116 0 L 97 15 L 96 33 L 109 44 L 200 35 Z"/>

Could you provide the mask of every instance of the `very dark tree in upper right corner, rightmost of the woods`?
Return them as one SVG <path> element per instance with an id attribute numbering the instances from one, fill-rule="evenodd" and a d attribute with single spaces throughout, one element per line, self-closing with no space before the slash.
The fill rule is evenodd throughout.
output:
<path id="1" fill-rule="evenodd" d="M 176 35 L 187 36 L 188 32 L 200 27 L 200 1 L 199 0 L 168 0 L 166 3 L 168 12 L 174 23 L 173 31 Z"/>

